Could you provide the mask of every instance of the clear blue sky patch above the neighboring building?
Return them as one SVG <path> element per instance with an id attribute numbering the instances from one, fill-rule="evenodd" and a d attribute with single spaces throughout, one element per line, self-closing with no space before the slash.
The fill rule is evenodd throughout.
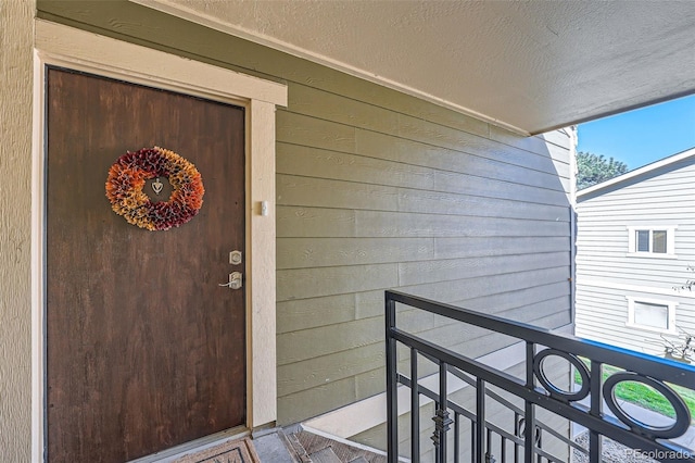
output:
<path id="1" fill-rule="evenodd" d="M 578 136 L 577 151 L 642 167 L 695 147 L 695 96 L 579 124 Z"/>

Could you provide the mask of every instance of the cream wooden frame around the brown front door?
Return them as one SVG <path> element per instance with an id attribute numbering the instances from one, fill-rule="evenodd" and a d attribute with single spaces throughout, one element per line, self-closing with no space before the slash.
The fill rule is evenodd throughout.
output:
<path id="1" fill-rule="evenodd" d="M 287 86 L 73 27 L 35 20 L 31 175 L 31 461 L 46 445 L 46 66 L 232 103 L 245 109 L 245 430 L 277 418 L 275 110 Z M 157 75 L 151 63 L 166 75 Z M 105 175 L 105 173 L 104 173 Z M 230 250 L 231 251 L 231 250 Z"/>

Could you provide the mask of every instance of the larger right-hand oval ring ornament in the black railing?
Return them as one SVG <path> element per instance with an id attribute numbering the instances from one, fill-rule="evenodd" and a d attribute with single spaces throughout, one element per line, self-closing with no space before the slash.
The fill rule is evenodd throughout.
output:
<path id="1" fill-rule="evenodd" d="M 650 426 L 648 423 L 643 423 L 630 416 L 616 401 L 616 387 L 626 381 L 642 383 L 658 390 L 673 408 L 675 412 L 674 423 L 670 426 Z M 666 384 L 648 376 L 642 376 L 633 372 L 612 374 L 604 381 L 603 393 L 606 404 L 616 417 L 630 426 L 634 433 L 643 436 L 672 439 L 685 434 L 691 425 L 691 412 L 683 399 Z"/>

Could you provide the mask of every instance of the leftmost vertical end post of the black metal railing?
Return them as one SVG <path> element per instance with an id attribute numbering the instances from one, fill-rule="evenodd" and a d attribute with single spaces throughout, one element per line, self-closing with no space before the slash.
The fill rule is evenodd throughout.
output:
<path id="1" fill-rule="evenodd" d="M 391 336 L 395 329 L 395 301 L 386 296 L 387 331 L 387 450 L 389 463 L 399 460 L 399 403 L 396 340 Z"/>

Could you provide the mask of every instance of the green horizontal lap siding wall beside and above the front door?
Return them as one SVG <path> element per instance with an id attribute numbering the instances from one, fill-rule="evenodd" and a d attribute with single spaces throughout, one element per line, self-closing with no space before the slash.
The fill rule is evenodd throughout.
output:
<path id="1" fill-rule="evenodd" d="M 276 133 L 280 424 L 383 391 L 384 289 L 569 323 L 568 134 L 519 137 L 130 2 L 38 9 L 288 85 Z M 428 315 L 408 323 L 476 355 L 507 343 L 467 345 Z"/>

